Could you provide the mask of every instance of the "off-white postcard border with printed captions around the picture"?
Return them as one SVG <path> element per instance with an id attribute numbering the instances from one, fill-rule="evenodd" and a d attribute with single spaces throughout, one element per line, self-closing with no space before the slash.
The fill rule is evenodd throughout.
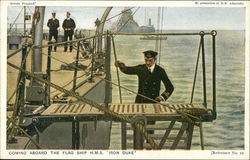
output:
<path id="1" fill-rule="evenodd" d="M 12 2 L 20 2 L 20 1 L 12 1 Z M 29 2 L 29 1 L 23 1 L 23 2 Z M 249 2 L 246 1 L 236 1 L 237 3 L 244 3 L 244 5 L 194 5 L 195 1 L 170 1 L 170 2 L 164 2 L 164 1 L 33 1 L 35 5 L 37 6 L 168 6 L 168 7 L 246 7 L 246 43 L 245 43 L 245 150 L 235 150 L 235 152 L 244 152 L 243 156 L 240 156 L 239 154 L 237 156 L 232 156 L 232 155 L 214 155 L 211 156 L 211 151 L 197 151 L 197 150 L 191 150 L 191 151 L 136 151 L 135 155 L 115 155 L 111 156 L 109 154 L 106 154 L 107 151 L 105 152 L 104 156 L 103 155 L 90 155 L 88 154 L 87 156 L 84 155 L 26 155 L 26 156 L 21 156 L 21 155 L 9 155 L 9 153 L 13 150 L 6 150 L 6 118 L 1 118 L 1 150 L 0 158 L 32 158 L 32 159 L 49 159 L 49 158 L 70 158 L 70 159 L 79 159 L 79 158 L 85 158 L 85 159 L 137 159 L 137 158 L 143 158 L 143 159 L 151 159 L 151 158 L 158 158 L 158 159 L 203 159 L 203 158 L 209 158 L 209 159 L 247 159 L 249 158 Z M 208 1 L 209 2 L 209 1 Z M 214 1 L 217 2 L 217 1 Z M 220 1 L 222 2 L 222 1 Z M 227 1 L 230 2 L 230 1 Z M 7 73 L 6 73 L 6 50 L 7 50 L 7 29 L 6 29 L 6 17 L 7 17 L 7 6 L 11 3 L 11 1 L 1 1 L 1 54 L 0 54 L 0 62 L 1 62 L 1 117 L 5 117 L 6 115 L 6 86 L 5 84 L 7 83 L 6 78 L 7 78 Z M 29 152 L 29 150 L 26 150 Z M 43 150 L 47 151 L 48 153 L 51 150 Z M 56 150 L 53 150 L 56 151 Z M 63 150 L 59 150 L 60 152 L 63 152 Z M 70 151 L 70 150 L 67 150 Z M 219 151 L 219 150 L 217 150 Z M 225 150 L 223 150 L 225 151 Z M 233 150 L 226 150 L 229 152 L 232 152 Z M 73 151 L 76 153 L 76 151 Z M 122 151 L 119 151 L 122 153 Z M 157 157 L 156 157 L 157 156 Z"/>

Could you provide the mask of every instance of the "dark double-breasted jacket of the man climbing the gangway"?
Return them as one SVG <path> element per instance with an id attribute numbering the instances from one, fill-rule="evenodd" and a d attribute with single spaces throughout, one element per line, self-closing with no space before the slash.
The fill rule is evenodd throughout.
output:
<path id="1" fill-rule="evenodd" d="M 148 67 L 145 64 L 137 65 L 133 67 L 124 66 L 121 68 L 121 71 L 126 74 L 134 74 L 138 76 L 139 88 L 138 93 L 142 94 L 151 99 L 155 99 L 159 96 L 161 81 L 165 85 L 165 91 L 161 94 L 161 96 L 167 100 L 168 97 L 174 91 L 174 86 L 169 80 L 165 70 L 155 65 L 153 72 L 151 73 L 148 70 Z M 137 95 L 135 99 L 135 103 L 154 103 L 142 96 Z"/>

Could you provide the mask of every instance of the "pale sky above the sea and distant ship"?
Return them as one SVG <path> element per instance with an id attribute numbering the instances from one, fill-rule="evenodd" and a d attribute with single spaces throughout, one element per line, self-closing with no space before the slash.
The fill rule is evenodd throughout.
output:
<path id="1" fill-rule="evenodd" d="M 132 9 L 133 12 L 138 7 Z M 13 23 L 21 11 L 21 7 L 8 7 L 8 23 Z M 117 15 L 124 7 L 114 7 L 110 16 Z M 34 7 L 27 8 L 33 12 Z M 62 24 L 65 13 L 71 12 L 71 17 L 76 22 L 76 27 L 81 29 L 94 29 L 94 21 L 101 18 L 105 7 L 55 7 L 47 6 L 45 9 L 44 24 L 51 13 L 56 12 L 57 18 Z M 164 7 L 163 29 L 165 30 L 244 30 L 245 29 L 245 8 L 242 7 Z M 23 12 L 22 12 L 23 13 Z M 145 14 L 146 13 L 146 14 Z M 151 18 L 152 24 L 157 28 L 158 7 L 140 7 L 134 14 L 134 20 L 138 24 L 145 25 L 145 15 Z M 160 18 L 161 19 L 161 18 Z M 111 20 L 115 23 L 117 18 Z M 17 23 L 23 22 L 23 14 L 20 14 Z M 161 25 L 160 25 L 161 26 Z"/>

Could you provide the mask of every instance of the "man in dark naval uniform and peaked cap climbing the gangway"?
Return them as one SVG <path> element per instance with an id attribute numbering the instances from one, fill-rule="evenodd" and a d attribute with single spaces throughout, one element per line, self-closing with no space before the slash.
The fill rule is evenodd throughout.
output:
<path id="1" fill-rule="evenodd" d="M 145 64 L 126 66 L 120 61 L 115 65 L 125 74 L 137 75 L 139 80 L 138 94 L 144 95 L 158 102 L 166 101 L 174 91 L 174 86 L 169 80 L 165 70 L 156 64 L 157 52 L 144 51 Z M 161 82 L 165 85 L 165 91 L 160 94 Z M 155 103 L 140 95 L 136 96 L 135 103 Z"/>

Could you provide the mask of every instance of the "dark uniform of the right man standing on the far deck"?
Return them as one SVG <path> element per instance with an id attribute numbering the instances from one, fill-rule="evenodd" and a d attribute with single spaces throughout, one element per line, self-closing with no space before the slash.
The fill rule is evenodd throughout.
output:
<path id="1" fill-rule="evenodd" d="M 68 38 L 69 38 L 69 40 L 72 40 L 72 36 L 74 34 L 74 29 L 76 28 L 75 21 L 71 18 L 65 19 L 63 21 L 62 27 L 64 29 L 64 41 L 67 41 Z M 67 51 L 67 48 L 68 48 L 68 45 L 65 44 L 64 51 Z M 72 43 L 70 43 L 70 51 L 72 51 L 72 49 L 73 49 L 73 46 L 72 46 Z"/>

